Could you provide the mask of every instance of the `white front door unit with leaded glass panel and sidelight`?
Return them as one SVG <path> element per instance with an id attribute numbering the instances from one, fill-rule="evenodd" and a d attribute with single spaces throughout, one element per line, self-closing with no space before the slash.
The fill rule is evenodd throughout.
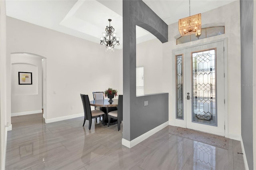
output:
<path id="1" fill-rule="evenodd" d="M 176 123 L 224 136 L 223 41 L 174 52 Z"/>

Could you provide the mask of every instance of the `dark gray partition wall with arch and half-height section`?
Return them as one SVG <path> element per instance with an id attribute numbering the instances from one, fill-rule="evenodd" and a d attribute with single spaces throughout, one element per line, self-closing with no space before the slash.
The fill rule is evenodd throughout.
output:
<path id="1" fill-rule="evenodd" d="M 128 141 L 168 121 L 168 93 L 136 97 L 136 25 L 168 42 L 168 25 L 142 0 L 123 0 L 123 138 Z"/>

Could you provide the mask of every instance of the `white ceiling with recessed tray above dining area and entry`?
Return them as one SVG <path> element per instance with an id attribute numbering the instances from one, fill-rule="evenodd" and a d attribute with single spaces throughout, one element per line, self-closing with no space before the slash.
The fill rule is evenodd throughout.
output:
<path id="1" fill-rule="evenodd" d="M 143 0 L 166 24 L 189 16 L 188 0 Z M 203 13 L 235 0 L 191 0 L 191 15 Z M 100 43 L 108 19 L 122 48 L 122 0 L 6 0 L 6 15 L 38 26 Z M 155 37 L 136 28 L 137 43 Z"/>

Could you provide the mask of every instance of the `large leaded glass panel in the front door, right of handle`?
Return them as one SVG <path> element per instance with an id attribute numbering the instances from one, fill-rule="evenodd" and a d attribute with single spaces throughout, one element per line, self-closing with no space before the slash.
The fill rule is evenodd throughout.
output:
<path id="1" fill-rule="evenodd" d="M 192 121 L 217 126 L 216 49 L 192 53 Z"/>

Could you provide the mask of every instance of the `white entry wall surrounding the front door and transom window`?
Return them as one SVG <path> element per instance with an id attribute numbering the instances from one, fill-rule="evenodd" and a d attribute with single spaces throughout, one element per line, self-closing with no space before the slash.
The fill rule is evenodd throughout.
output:
<path id="1" fill-rule="evenodd" d="M 175 63 L 172 59 L 172 50 L 184 48 L 201 43 L 207 43 L 218 39 L 227 38 L 227 61 L 228 68 L 226 76 L 228 76 L 228 133 L 226 136 L 240 140 L 241 136 L 241 69 L 240 69 L 240 4 L 239 1 L 233 2 L 226 6 L 216 8 L 214 10 L 202 13 L 202 26 L 225 25 L 225 34 L 210 37 L 194 42 L 176 45 L 176 36 L 178 32 L 178 22 L 169 25 L 168 42 L 163 47 L 163 73 L 167 77 L 164 83 L 164 91 L 169 93 L 169 121 L 171 125 L 175 125 L 175 83 L 174 68 Z M 227 122 L 226 122 L 227 123 Z"/>

